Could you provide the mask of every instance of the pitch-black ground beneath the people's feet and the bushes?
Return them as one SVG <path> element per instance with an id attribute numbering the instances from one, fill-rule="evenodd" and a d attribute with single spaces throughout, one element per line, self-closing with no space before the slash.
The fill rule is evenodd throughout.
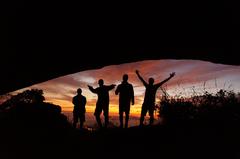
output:
<path id="1" fill-rule="evenodd" d="M 5 158 L 240 158 L 238 125 L 1 130 Z"/>

